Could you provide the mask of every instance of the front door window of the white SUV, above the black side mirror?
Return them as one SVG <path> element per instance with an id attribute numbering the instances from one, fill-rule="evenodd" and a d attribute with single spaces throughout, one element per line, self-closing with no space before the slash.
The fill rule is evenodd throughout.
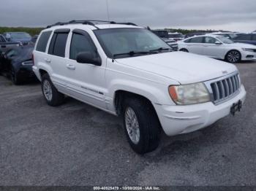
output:
<path id="1" fill-rule="evenodd" d="M 69 58 L 76 60 L 78 53 L 80 52 L 92 52 L 96 57 L 96 48 L 91 42 L 91 39 L 88 35 L 84 36 L 82 34 L 73 34 L 72 41 L 70 44 L 70 53 Z"/>

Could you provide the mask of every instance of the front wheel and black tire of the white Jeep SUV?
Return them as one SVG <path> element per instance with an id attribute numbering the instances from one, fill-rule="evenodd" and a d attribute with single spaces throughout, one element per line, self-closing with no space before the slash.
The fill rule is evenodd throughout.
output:
<path id="1" fill-rule="evenodd" d="M 140 98 L 127 98 L 122 110 L 124 131 L 132 149 L 138 154 L 157 149 L 161 125 L 151 103 Z"/>

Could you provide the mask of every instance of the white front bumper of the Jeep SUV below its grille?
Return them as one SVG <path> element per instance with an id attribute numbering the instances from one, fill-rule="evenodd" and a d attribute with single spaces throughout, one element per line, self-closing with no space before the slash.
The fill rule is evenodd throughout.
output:
<path id="1" fill-rule="evenodd" d="M 217 122 L 217 120 L 230 114 L 230 108 L 239 100 L 244 103 L 246 91 L 241 85 L 236 97 L 222 104 L 214 105 L 212 102 L 189 106 L 167 106 L 155 104 L 159 121 L 167 136 L 190 133 Z"/>

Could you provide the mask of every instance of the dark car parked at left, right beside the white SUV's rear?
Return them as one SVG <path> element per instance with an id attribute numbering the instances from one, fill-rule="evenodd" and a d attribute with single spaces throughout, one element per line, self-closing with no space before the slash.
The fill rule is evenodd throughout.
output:
<path id="1" fill-rule="evenodd" d="M 35 79 L 32 66 L 34 64 L 32 52 L 34 47 L 14 47 L 0 57 L 0 72 L 10 75 L 12 82 L 19 85 L 30 79 Z"/>

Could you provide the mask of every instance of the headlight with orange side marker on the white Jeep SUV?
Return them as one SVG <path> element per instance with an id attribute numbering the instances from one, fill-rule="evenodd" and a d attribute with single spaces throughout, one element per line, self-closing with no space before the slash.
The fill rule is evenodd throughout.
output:
<path id="1" fill-rule="evenodd" d="M 178 105 L 199 104 L 211 101 L 208 90 L 203 83 L 173 85 L 169 87 L 169 94 Z"/>

